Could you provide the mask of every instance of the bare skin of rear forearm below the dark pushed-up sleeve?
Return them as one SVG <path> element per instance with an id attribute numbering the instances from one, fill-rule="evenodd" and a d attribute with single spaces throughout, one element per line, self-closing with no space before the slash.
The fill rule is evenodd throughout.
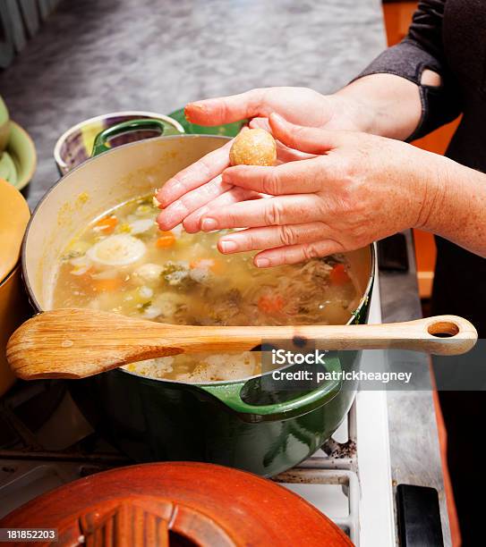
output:
<path id="1" fill-rule="evenodd" d="M 337 91 L 356 105 L 359 130 L 405 140 L 422 116 L 419 86 L 395 74 L 371 74 Z"/>

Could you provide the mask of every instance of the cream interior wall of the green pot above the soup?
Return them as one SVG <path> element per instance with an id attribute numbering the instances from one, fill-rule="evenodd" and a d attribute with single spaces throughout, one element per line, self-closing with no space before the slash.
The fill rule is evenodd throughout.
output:
<path id="1" fill-rule="evenodd" d="M 68 173 L 32 217 L 23 249 L 23 273 L 39 309 L 52 307 L 57 262 L 83 228 L 108 209 L 153 193 L 175 173 L 226 139 L 163 137 L 115 148 Z"/>

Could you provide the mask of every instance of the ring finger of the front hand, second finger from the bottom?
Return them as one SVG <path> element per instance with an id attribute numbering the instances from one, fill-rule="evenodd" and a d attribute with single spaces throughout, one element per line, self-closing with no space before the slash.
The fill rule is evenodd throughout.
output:
<path id="1" fill-rule="evenodd" d="M 288 247 L 323 240 L 330 234 L 325 223 L 284 224 L 264 228 L 248 228 L 229 233 L 217 242 L 217 248 L 225 254 L 251 250 Z"/>

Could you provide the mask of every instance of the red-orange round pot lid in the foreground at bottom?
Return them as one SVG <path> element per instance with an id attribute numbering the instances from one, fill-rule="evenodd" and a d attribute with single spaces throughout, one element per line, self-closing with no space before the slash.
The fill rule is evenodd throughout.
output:
<path id="1" fill-rule="evenodd" d="M 90 475 L 29 501 L 0 526 L 26 522 L 57 528 L 59 546 L 353 545 L 318 509 L 283 486 L 195 462 Z"/>

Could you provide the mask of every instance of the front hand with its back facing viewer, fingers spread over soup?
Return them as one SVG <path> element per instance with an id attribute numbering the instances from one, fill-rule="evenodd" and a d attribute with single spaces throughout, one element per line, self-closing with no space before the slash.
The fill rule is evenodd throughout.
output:
<path id="1" fill-rule="evenodd" d="M 223 184 L 272 197 L 201 216 L 203 231 L 246 228 L 219 240 L 223 253 L 261 250 L 255 265 L 269 267 L 353 250 L 422 226 L 441 199 L 440 156 L 364 133 L 303 128 L 277 114 L 269 122 L 277 139 L 314 157 L 225 170 Z"/>

